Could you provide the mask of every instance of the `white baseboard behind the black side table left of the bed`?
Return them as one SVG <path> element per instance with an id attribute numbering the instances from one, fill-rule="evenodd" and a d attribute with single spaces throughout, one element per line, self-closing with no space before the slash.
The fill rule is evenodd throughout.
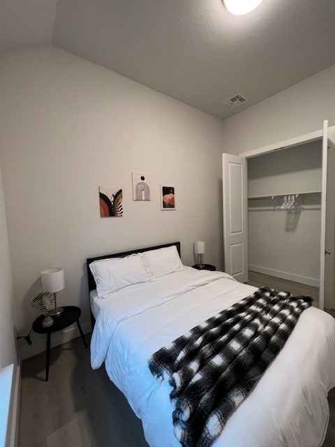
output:
<path id="1" fill-rule="evenodd" d="M 81 324 L 82 332 L 84 334 L 88 334 L 91 332 L 91 321 L 85 321 L 85 323 Z M 22 342 L 19 347 L 19 358 L 20 360 L 25 360 L 26 358 L 36 356 L 41 352 L 46 351 L 46 335 L 36 334 L 35 332 L 31 332 L 31 341 L 33 344 L 29 345 L 26 342 Z M 51 347 L 58 346 L 59 344 L 64 344 L 70 342 L 70 340 L 80 337 L 80 332 L 77 328 L 77 325 L 73 325 L 70 328 L 66 328 L 64 330 L 59 330 L 59 332 L 52 333 L 51 336 Z"/>

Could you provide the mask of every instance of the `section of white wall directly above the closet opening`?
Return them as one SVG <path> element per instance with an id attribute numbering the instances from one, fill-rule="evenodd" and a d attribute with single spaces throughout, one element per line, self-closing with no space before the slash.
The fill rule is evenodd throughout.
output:
<path id="1" fill-rule="evenodd" d="M 278 74 L 280 75 L 280 74 Z M 225 119 L 223 152 L 240 154 L 335 124 L 335 66 Z"/>

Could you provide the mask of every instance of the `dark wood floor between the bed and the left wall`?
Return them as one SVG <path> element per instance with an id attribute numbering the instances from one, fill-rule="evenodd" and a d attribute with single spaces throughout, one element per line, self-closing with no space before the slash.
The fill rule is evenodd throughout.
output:
<path id="1" fill-rule="evenodd" d="M 89 342 L 89 337 L 87 337 Z M 149 447 L 142 424 L 81 339 L 22 362 L 19 447 Z"/>

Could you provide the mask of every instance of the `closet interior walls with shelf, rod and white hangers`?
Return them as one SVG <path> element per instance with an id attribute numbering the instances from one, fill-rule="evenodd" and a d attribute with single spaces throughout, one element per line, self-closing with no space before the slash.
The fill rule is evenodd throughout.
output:
<path id="1" fill-rule="evenodd" d="M 319 286 L 321 186 L 320 140 L 248 159 L 249 270 Z"/>

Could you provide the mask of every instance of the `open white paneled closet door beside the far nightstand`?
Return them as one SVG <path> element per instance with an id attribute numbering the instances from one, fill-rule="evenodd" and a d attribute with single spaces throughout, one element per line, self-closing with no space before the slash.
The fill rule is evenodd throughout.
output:
<path id="1" fill-rule="evenodd" d="M 222 154 L 223 247 L 225 272 L 237 281 L 248 281 L 248 228 L 246 159 Z"/>

